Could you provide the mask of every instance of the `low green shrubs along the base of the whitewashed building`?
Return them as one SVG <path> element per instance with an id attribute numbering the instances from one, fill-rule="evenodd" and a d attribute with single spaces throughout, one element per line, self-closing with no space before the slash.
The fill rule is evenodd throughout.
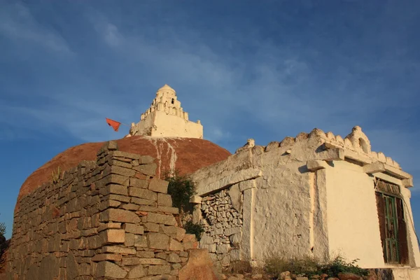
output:
<path id="1" fill-rule="evenodd" d="M 342 256 L 337 256 L 328 262 L 319 262 L 316 258 L 284 258 L 275 256 L 265 261 L 265 271 L 278 277 L 281 272 L 302 274 L 311 277 L 315 274 L 327 274 L 329 277 L 337 277 L 340 272 L 351 272 L 359 276 L 367 276 L 369 271 L 356 265 L 356 260 L 346 262 Z"/>

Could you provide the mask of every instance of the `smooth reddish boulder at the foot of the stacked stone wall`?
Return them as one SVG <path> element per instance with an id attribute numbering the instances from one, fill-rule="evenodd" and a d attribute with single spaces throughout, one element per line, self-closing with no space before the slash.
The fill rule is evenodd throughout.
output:
<path id="1" fill-rule="evenodd" d="M 179 270 L 179 280 L 217 280 L 213 262 L 207 249 L 190 251 L 187 265 Z"/>

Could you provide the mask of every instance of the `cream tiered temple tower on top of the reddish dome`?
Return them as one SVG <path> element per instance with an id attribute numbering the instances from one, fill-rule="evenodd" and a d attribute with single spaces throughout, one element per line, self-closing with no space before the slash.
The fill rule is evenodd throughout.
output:
<path id="1" fill-rule="evenodd" d="M 176 92 L 169 85 L 160 87 L 151 106 L 141 114 L 140 122 L 132 123 L 130 136 L 203 138 L 203 126 L 188 120 Z"/>

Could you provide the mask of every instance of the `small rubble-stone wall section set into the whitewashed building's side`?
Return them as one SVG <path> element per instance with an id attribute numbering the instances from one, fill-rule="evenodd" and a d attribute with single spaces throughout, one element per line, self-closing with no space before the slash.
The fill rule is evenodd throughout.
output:
<path id="1" fill-rule="evenodd" d="M 219 267 L 227 267 L 230 262 L 240 259 L 243 217 L 241 197 L 236 188 L 202 197 L 200 224 L 204 234 L 200 248 L 208 248 L 211 259 Z M 232 203 L 232 200 L 237 203 Z"/>

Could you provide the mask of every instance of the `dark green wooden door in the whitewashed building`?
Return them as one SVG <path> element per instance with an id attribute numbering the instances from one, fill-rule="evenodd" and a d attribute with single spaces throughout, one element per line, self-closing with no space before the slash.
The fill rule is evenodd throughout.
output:
<path id="1" fill-rule="evenodd" d="M 407 225 L 400 187 L 378 180 L 376 200 L 384 261 L 389 264 L 407 264 Z"/>

